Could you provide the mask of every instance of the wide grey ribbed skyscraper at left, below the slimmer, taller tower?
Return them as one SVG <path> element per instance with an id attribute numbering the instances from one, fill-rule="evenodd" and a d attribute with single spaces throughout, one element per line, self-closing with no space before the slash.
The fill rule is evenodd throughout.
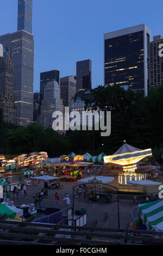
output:
<path id="1" fill-rule="evenodd" d="M 20 3 L 23 0 L 18 1 Z M 26 126 L 33 123 L 34 35 L 20 30 L 1 35 L 0 43 L 4 51 L 8 48 L 14 62 L 14 99 L 18 105 L 18 125 Z"/>

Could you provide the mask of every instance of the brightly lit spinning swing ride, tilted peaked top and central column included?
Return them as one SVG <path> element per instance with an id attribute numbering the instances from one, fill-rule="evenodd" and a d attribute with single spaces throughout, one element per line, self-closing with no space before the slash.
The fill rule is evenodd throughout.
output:
<path id="1" fill-rule="evenodd" d="M 104 156 L 104 163 L 116 163 L 123 167 L 123 172 L 118 174 L 118 183 L 127 185 L 131 180 L 142 180 L 142 174 L 136 173 L 136 163 L 147 156 L 152 156 L 151 149 L 138 149 L 123 141 L 123 145 L 113 155 Z"/>

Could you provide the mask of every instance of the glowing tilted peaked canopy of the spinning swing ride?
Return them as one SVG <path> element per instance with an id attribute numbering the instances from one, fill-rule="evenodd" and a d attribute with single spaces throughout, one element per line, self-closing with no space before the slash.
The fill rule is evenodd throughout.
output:
<path id="1" fill-rule="evenodd" d="M 134 164 L 139 162 L 146 156 L 151 156 L 151 149 L 138 149 L 123 141 L 123 145 L 120 149 L 118 149 L 113 155 L 104 156 L 105 163 L 117 163 L 124 165 Z"/>

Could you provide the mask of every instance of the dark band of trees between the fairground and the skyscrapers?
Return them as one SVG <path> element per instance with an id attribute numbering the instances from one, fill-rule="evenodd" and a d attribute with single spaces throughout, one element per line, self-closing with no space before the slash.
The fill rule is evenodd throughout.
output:
<path id="1" fill-rule="evenodd" d="M 49 156 L 60 156 L 74 151 L 76 154 L 89 152 L 97 155 L 102 151 L 113 154 L 123 144 L 136 148 L 152 148 L 155 160 L 163 160 L 163 86 L 151 88 L 148 97 L 119 86 L 98 86 L 92 89 L 93 102 L 85 106 L 102 111 L 111 111 L 111 135 L 101 137 L 101 131 L 68 131 L 60 136 L 53 129 L 41 125 L 27 127 L 3 123 L 0 109 L 0 153 L 28 154 L 46 151 Z M 93 148 L 94 137 L 94 148 Z"/>

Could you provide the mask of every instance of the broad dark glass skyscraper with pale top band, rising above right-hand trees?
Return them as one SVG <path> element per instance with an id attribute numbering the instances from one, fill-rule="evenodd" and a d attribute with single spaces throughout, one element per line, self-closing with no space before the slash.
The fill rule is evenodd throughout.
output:
<path id="1" fill-rule="evenodd" d="M 104 84 L 147 95 L 150 86 L 151 29 L 145 24 L 104 34 Z"/>

